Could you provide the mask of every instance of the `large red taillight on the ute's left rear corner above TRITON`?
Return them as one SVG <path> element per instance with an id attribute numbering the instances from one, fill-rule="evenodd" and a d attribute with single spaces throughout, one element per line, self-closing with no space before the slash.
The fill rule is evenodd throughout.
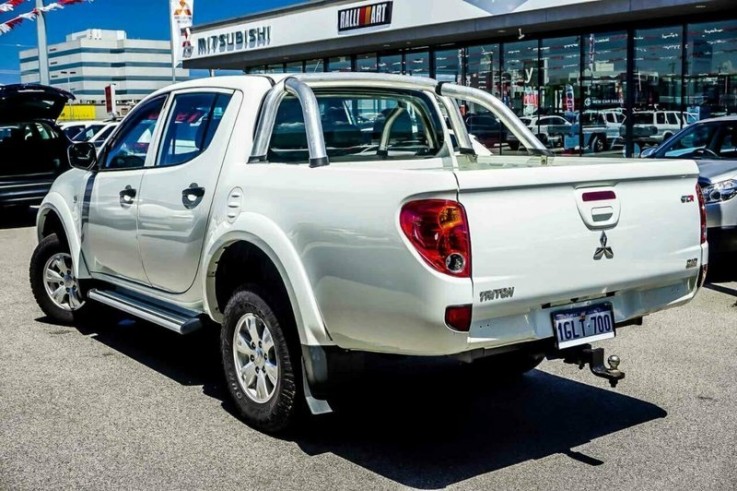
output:
<path id="1" fill-rule="evenodd" d="M 442 199 L 410 201 L 402 207 L 399 224 L 433 269 L 471 277 L 471 239 L 463 205 Z"/>

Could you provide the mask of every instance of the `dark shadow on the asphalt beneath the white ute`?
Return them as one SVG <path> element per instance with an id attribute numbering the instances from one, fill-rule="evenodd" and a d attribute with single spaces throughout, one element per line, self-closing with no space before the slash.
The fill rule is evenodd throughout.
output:
<path id="1" fill-rule="evenodd" d="M 118 317 L 79 331 L 181 384 L 201 385 L 235 414 L 215 329 L 182 337 Z M 572 449 L 667 415 L 591 383 L 540 370 L 495 382 L 450 360 L 392 360 L 331 401 L 336 413 L 308 419 L 287 439 L 307 455 L 334 454 L 400 485 L 437 489 L 553 454 L 600 465 Z"/>

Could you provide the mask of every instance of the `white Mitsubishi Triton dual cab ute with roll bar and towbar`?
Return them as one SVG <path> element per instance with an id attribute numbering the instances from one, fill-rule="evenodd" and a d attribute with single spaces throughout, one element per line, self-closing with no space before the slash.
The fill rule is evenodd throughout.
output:
<path id="1" fill-rule="evenodd" d="M 460 101 L 529 155 L 477 155 Z M 329 411 L 376 353 L 490 375 L 562 358 L 614 385 L 619 360 L 589 343 L 688 302 L 705 274 L 693 161 L 553 158 L 498 99 L 430 79 L 193 80 L 69 158 L 38 213 L 43 311 L 218 326 L 233 400 L 264 431 Z"/>

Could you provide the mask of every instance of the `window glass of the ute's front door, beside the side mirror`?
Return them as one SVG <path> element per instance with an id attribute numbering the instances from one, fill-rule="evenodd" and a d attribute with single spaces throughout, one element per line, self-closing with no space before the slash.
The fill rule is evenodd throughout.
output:
<path id="1" fill-rule="evenodd" d="M 103 169 L 137 169 L 146 163 L 146 155 L 166 97 L 157 97 L 134 111 L 110 145 Z"/>

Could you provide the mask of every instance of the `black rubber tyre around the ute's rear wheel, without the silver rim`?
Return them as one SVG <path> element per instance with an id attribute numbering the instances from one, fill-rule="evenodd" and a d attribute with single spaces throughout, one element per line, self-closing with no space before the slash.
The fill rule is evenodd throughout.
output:
<path id="1" fill-rule="evenodd" d="M 291 312 L 272 300 L 256 285 L 238 288 L 225 307 L 220 336 L 220 351 L 228 391 L 246 422 L 267 433 L 281 433 L 293 426 L 302 405 L 301 356 L 295 343 Z M 269 323 L 279 353 L 279 382 L 272 400 L 259 404 L 246 396 L 238 383 L 233 362 L 233 333 L 238 320 L 253 312 Z M 296 333 L 295 333 L 296 334 Z M 295 345 L 296 344 L 296 345 Z"/>

